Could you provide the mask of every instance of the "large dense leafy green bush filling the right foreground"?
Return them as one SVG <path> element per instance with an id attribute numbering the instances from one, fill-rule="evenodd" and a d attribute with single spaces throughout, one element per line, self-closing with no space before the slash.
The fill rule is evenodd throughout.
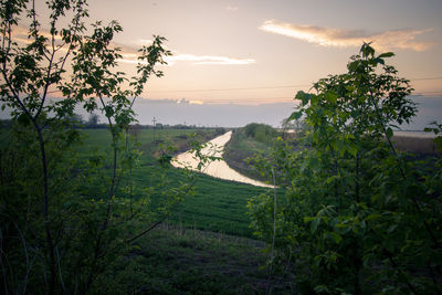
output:
<path id="1" fill-rule="evenodd" d="M 251 199 L 252 226 L 275 235 L 301 293 L 442 292 L 442 160 L 417 161 L 391 144 L 394 124 L 417 112 L 391 56 L 364 44 L 347 73 L 298 92 L 291 119 L 308 127 L 304 149 L 280 138 L 274 160 L 259 165 L 285 193 L 276 213 L 273 194 Z"/>

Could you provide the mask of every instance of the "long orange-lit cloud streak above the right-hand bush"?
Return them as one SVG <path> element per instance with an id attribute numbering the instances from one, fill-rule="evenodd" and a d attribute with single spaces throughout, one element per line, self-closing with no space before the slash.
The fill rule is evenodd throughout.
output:
<path id="1" fill-rule="evenodd" d="M 418 42 L 414 39 L 431 29 L 413 30 L 402 29 L 369 33 L 365 30 L 345 30 L 327 27 L 316 27 L 296 23 L 282 23 L 274 20 L 265 21 L 260 30 L 281 34 L 294 39 L 299 39 L 322 46 L 352 48 L 360 46 L 362 42 L 373 42 L 373 46 L 379 50 L 408 49 L 424 51 L 430 44 Z"/>

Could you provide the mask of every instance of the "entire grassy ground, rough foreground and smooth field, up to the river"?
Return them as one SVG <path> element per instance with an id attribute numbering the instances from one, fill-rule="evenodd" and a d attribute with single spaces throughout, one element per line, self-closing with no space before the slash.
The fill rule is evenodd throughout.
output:
<path id="1" fill-rule="evenodd" d="M 85 133 L 88 136 L 81 147 L 84 157 L 110 139 L 106 130 Z M 168 130 L 168 137 L 186 148 L 181 136 L 189 130 Z M 143 188 L 156 181 L 158 169 L 152 157 L 156 146 L 152 131 L 143 130 L 139 143 L 144 156 L 141 166 L 134 171 L 134 180 Z M 171 169 L 168 178 L 179 181 L 180 175 Z M 245 204 L 263 191 L 201 175 L 194 197 L 186 198 L 166 224 L 139 239 L 128 255 L 109 265 L 92 293 L 264 294 L 269 289 L 291 293 L 291 280 L 271 278 L 266 268 L 260 267 L 266 261 L 265 243 L 240 236 L 252 236 Z"/>

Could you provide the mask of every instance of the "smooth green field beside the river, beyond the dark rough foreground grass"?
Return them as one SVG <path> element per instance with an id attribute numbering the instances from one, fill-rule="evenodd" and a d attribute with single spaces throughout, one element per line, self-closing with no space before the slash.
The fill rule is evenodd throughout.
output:
<path id="1" fill-rule="evenodd" d="M 84 144 L 80 147 L 82 158 L 88 157 L 95 150 L 109 150 L 110 135 L 106 129 L 82 131 L 85 134 Z M 143 156 L 140 165 L 133 172 L 136 187 L 144 189 L 158 181 L 158 164 L 155 159 L 158 139 L 164 143 L 173 143 L 183 149 L 188 141 L 183 135 L 191 135 L 196 131 L 201 134 L 204 139 L 215 136 L 213 129 L 162 129 L 156 130 L 156 141 L 154 141 L 154 130 L 143 129 L 138 137 Z M 176 168 L 171 168 L 167 173 L 170 182 L 182 180 L 181 173 Z M 200 175 L 196 182 L 194 196 L 185 198 L 173 208 L 169 222 L 185 228 L 252 238 L 245 206 L 251 197 L 265 191 L 266 189 L 263 188 Z M 143 198 L 143 196 L 138 197 Z"/>

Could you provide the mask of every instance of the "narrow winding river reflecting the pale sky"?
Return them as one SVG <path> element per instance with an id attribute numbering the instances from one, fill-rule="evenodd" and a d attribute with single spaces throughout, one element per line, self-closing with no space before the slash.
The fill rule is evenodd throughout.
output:
<path id="1" fill-rule="evenodd" d="M 201 152 L 206 156 L 214 156 L 222 158 L 222 155 L 224 152 L 224 146 L 227 143 L 229 143 L 231 137 L 232 137 L 232 131 L 228 131 L 221 136 L 213 138 L 212 140 L 209 141 L 209 146 L 203 148 Z M 173 167 L 177 168 L 190 167 L 191 169 L 197 170 L 198 160 L 194 157 L 194 152 L 186 151 L 173 158 L 172 165 Z M 264 182 L 251 179 L 249 177 L 239 173 L 238 171 L 230 168 L 229 165 L 222 159 L 210 162 L 202 169 L 201 172 L 211 177 L 221 178 L 225 180 L 249 183 L 256 187 L 273 188 L 273 186 L 266 185 Z"/>

